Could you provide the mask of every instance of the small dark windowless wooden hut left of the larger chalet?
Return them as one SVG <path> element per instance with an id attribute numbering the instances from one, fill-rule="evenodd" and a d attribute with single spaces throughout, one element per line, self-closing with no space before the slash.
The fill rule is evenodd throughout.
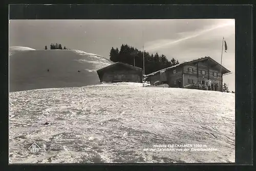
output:
<path id="1" fill-rule="evenodd" d="M 135 82 L 142 83 L 143 69 L 116 62 L 97 70 L 100 82 Z"/>

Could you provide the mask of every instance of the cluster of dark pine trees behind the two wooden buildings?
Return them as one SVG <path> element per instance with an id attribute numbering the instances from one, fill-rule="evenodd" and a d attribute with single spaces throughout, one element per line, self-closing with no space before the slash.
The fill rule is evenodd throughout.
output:
<path id="1" fill-rule="evenodd" d="M 144 51 L 144 58 L 145 75 L 179 64 L 178 60 L 173 58 L 169 61 L 165 55 L 159 55 L 158 53 L 153 55 Z M 143 52 L 127 44 L 122 44 L 120 51 L 118 48 L 112 47 L 110 51 L 110 60 L 113 62 L 123 62 L 130 65 L 135 64 L 135 66 L 143 68 Z"/>

